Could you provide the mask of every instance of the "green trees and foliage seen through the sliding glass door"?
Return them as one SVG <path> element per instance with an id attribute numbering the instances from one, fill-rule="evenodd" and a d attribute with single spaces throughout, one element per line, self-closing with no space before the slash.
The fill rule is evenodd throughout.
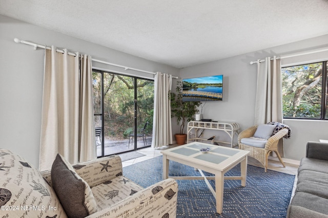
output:
<path id="1" fill-rule="evenodd" d="M 95 113 L 104 113 L 105 135 L 114 140 L 127 138 L 126 132 L 134 127 L 134 78 L 104 72 L 104 87 L 101 74 L 93 72 L 93 96 Z M 101 90 L 104 89 L 104 112 L 101 111 Z M 152 132 L 154 84 L 152 81 L 137 79 L 137 123 L 146 133 Z M 101 126 L 101 119 L 95 120 Z"/>

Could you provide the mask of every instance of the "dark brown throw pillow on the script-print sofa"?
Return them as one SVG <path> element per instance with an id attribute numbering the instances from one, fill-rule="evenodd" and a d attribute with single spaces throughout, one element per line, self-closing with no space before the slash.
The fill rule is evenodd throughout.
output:
<path id="1" fill-rule="evenodd" d="M 51 168 L 52 187 L 69 217 L 85 217 L 98 210 L 91 188 L 63 156 Z"/>

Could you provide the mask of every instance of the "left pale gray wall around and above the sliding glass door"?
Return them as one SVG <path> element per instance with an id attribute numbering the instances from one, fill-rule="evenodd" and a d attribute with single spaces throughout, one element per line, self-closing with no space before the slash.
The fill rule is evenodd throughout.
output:
<path id="1" fill-rule="evenodd" d="M 55 45 L 72 52 L 89 54 L 95 59 L 138 69 L 161 71 L 174 76 L 179 74 L 179 70 L 171 66 L 0 15 L 0 148 L 18 153 L 34 166 L 38 166 L 39 160 L 44 50 L 34 51 L 32 46 L 15 43 L 14 38 Z M 94 63 L 94 66 L 125 71 L 98 63 Z"/>

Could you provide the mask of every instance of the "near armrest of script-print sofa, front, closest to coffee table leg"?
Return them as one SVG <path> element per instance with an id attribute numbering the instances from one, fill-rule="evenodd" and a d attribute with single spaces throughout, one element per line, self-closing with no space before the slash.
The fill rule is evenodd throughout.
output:
<path id="1" fill-rule="evenodd" d="M 177 182 L 166 179 L 87 217 L 176 217 L 177 192 Z"/>

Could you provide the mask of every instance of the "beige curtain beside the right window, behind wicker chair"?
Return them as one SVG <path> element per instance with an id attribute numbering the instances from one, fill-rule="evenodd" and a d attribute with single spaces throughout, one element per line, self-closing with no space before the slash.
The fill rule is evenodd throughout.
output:
<path id="1" fill-rule="evenodd" d="M 260 63 L 257 61 L 257 88 L 255 102 L 255 125 L 269 122 L 282 123 L 280 59 L 270 57 Z M 283 156 L 282 139 L 278 151 Z"/>

